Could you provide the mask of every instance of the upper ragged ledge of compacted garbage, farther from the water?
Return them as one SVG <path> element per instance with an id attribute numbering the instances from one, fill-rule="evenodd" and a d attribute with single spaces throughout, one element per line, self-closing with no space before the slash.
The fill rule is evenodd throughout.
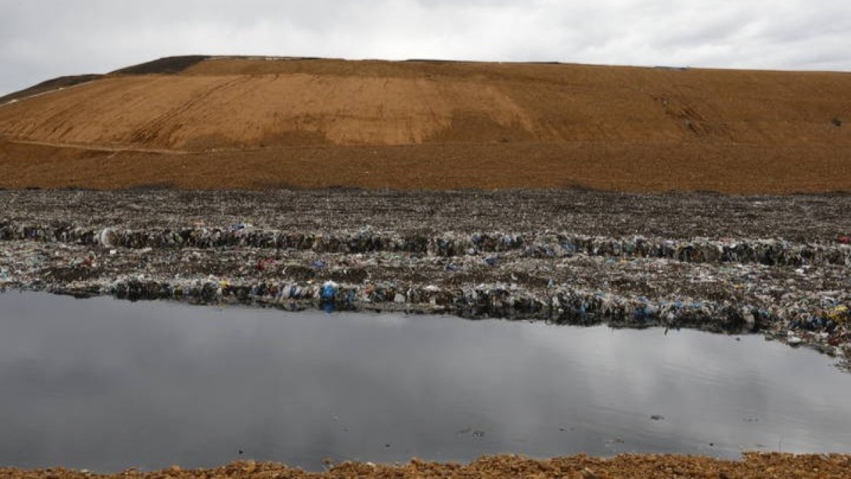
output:
<path id="1" fill-rule="evenodd" d="M 287 232 L 253 228 L 245 223 L 203 228 L 81 228 L 62 225 L 25 225 L 0 220 L 0 241 L 36 240 L 100 245 L 106 248 L 276 248 L 324 253 L 393 251 L 442 257 L 483 252 L 522 250 L 527 257 L 657 257 L 683 263 L 761 263 L 770 266 L 851 265 L 851 245 L 846 243 L 796 244 L 777 239 L 665 240 L 660 238 L 610 238 L 568 233 L 424 234 L 342 231 L 336 234 Z"/>

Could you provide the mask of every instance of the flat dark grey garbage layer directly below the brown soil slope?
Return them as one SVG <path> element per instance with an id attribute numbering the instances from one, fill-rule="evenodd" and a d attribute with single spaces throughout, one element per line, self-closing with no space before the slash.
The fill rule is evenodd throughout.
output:
<path id="1" fill-rule="evenodd" d="M 546 232 L 630 238 L 782 238 L 840 242 L 851 236 L 851 194 L 723 196 L 575 190 L 0 191 L 0 218 L 103 228 L 226 227 L 334 234 L 375 231 Z"/>

